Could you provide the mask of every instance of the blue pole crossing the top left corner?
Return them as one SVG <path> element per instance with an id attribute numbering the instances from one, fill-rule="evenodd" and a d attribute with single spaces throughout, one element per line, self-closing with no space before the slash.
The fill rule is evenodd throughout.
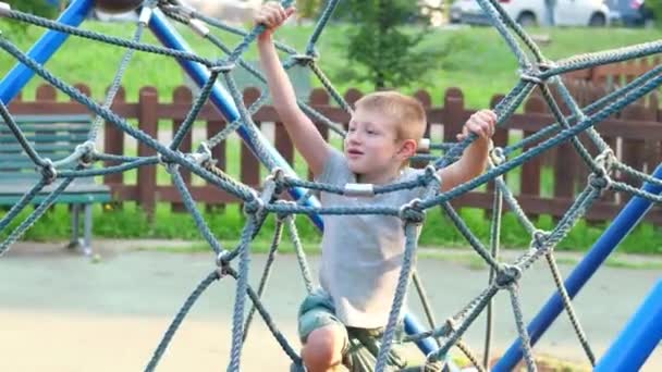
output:
<path id="1" fill-rule="evenodd" d="M 93 0 L 74 0 L 60 15 L 58 22 L 69 26 L 78 26 L 93 7 Z M 40 64 L 45 64 L 60 49 L 68 37 L 69 34 L 65 33 L 47 30 L 30 48 L 27 55 Z M 9 104 L 34 75 L 34 71 L 22 63 L 16 63 L 0 82 L 0 100 L 4 104 Z"/>

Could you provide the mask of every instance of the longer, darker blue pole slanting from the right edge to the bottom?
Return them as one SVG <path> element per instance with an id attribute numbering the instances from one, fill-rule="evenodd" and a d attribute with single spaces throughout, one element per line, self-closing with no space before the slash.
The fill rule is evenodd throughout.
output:
<path id="1" fill-rule="evenodd" d="M 662 164 L 653 173 L 653 177 L 662 178 Z M 651 194 L 662 193 L 662 187 L 651 184 L 645 184 L 643 189 Z M 616 246 L 637 226 L 639 221 L 646 215 L 652 203 L 641 197 L 634 197 L 623 210 L 618 213 L 614 222 L 596 241 L 587 256 L 573 270 L 568 278 L 565 281 L 568 296 L 574 298 L 581 289 L 584 284 L 598 270 L 600 264 L 604 262 L 606 257 L 616 248 Z M 531 337 L 531 345 L 535 345 L 538 338 L 547 331 L 547 328 L 556 319 L 563 310 L 563 301 L 559 293 L 554 293 L 544 305 L 542 310 L 528 325 L 528 332 Z M 508 348 L 503 358 L 494 365 L 493 371 L 511 371 L 522 360 L 522 339 L 517 338 Z"/>

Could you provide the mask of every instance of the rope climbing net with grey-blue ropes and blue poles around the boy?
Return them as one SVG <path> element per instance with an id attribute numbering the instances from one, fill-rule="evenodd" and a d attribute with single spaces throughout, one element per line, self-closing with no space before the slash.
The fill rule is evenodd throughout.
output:
<path id="1" fill-rule="evenodd" d="M 154 370 L 160 358 L 164 355 L 169 342 L 173 337 L 183 319 L 195 300 L 201 293 L 214 281 L 221 277 L 234 277 L 236 280 L 236 302 L 234 307 L 234 315 L 232 320 L 232 349 L 229 360 L 229 370 L 238 371 L 241 363 L 242 343 L 245 339 L 247 330 L 249 328 L 250 320 L 254 311 L 257 310 L 263 321 L 269 326 L 270 331 L 281 344 L 283 350 L 292 359 L 293 363 L 301 367 L 301 358 L 294 350 L 292 345 L 285 339 L 282 333 L 278 331 L 274 322 L 269 315 L 267 309 L 261 305 L 260 296 L 262 293 L 265 281 L 268 277 L 269 271 L 272 269 L 268 264 L 262 283 L 258 290 L 253 289 L 248 284 L 249 268 L 249 244 L 253 237 L 258 234 L 265 219 L 274 216 L 277 219 L 277 232 L 280 234 L 282 228 L 287 227 L 291 232 L 296 252 L 302 264 L 302 275 L 308 290 L 312 288 L 312 278 L 307 269 L 305 256 L 301 248 L 301 243 L 296 234 L 293 215 L 305 214 L 322 228 L 320 215 L 322 214 L 387 214 L 399 216 L 403 220 L 404 228 L 407 236 L 407 244 L 404 250 L 404 264 L 400 276 L 397 292 L 393 300 L 389 324 L 383 335 L 383 344 L 377 356 L 377 371 L 383 371 L 385 368 L 385 356 L 392 347 L 394 330 L 400 319 L 402 311 L 402 302 L 409 281 L 417 282 L 417 276 L 414 271 L 413 262 L 416 255 L 416 234 L 415 226 L 422 223 L 425 220 L 425 211 L 434 207 L 441 207 L 455 224 L 462 235 L 467 239 L 476 252 L 489 264 L 491 269 L 491 280 L 487 288 L 478 297 L 471 300 L 464 309 L 455 315 L 449 318 L 449 321 L 443 325 L 434 324 L 431 317 L 428 317 L 430 326 L 425 330 L 410 314 L 405 315 L 405 328 L 408 333 L 406 342 L 417 343 L 419 348 L 427 356 L 427 362 L 437 362 L 446 360 L 449 351 L 452 347 L 457 346 L 465 352 L 475 363 L 476 368 L 483 370 L 487 361 L 479 362 L 469 347 L 462 342 L 462 336 L 465 331 L 474 323 L 476 318 L 485 310 L 490 311 L 491 299 L 501 290 L 507 290 L 513 306 L 515 324 L 519 334 L 519 339 L 501 359 L 499 364 L 494 367 L 497 371 L 507 371 L 524 357 L 526 365 L 530 371 L 536 370 L 531 345 L 536 343 L 538 337 L 544 332 L 549 324 L 556 315 L 565 310 L 571 319 L 571 322 L 576 331 L 579 344 L 584 348 L 587 359 L 591 364 L 597 365 L 603 371 L 617 371 L 618 363 L 612 363 L 611 360 L 628 359 L 628 368 L 636 369 L 640 367 L 646 357 L 657 347 L 662 338 L 662 328 L 660 322 L 650 321 L 651 319 L 660 319 L 662 309 L 659 303 L 662 302 L 662 292 L 658 287 L 651 292 L 649 298 L 637 312 L 632 323 L 625 328 L 624 336 L 621 340 L 627 340 L 628 347 L 613 347 L 602 360 L 596 359 L 590 344 L 580 327 L 580 323 L 573 310 L 571 299 L 577 294 L 579 288 L 590 275 L 597 270 L 605 257 L 616 247 L 627 233 L 640 221 L 641 216 L 650 208 L 652 202 L 660 202 L 662 197 L 662 168 L 659 168 L 654 174 L 648 175 L 641 171 L 629 168 L 627 164 L 620 162 L 608 144 L 600 137 L 596 126 L 601 121 L 622 110 L 627 104 L 640 99 L 646 94 L 657 89 L 662 83 L 662 66 L 657 66 L 645 75 L 634 79 L 628 85 L 621 89 L 609 94 L 602 99 L 591 103 L 588 107 L 579 108 L 573 97 L 565 88 L 559 75 L 576 70 L 586 69 L 598 64 L 613 63 L 617 61 L 629 60 L 651 55 L 662 51 L 662 41 L 648 42 L 617 50 L 608 50 L 603 52 L 583 54 L 572 57 L 560 61 L 548 60 L 538 49 L 536 44 L 526 34 L 526 32 L 503 11 L 497 0 L 477 0 L 483 11 L 492 20 L 494 27 L 503 36 L 505 44 L 516 55 L 520 69 L 520 80 L 511 90 L 508 95 L 495 107 L 495 112 L 499 115 L 499 123 L 503 125 L 506 119 L 518 108 L 526 97 L 530 95 L 534 88 L 539 88 L 542 97 L 549 104 L 551 112 L 554 114 L 556 123 L 550 125 L 537 133 L 535 136 L 527 137 L 516 145 L 505 148 L 494 149 L 490 169 L 483 175 L 480 175 L 465 184 L 462 184 L 446 193 L 432 193 L 429 198 L 416 200 L 405 206 L 383 206 L 380 208 L 320 208 L 309 190 L 324 189 L 326 191 L 336 194 L 353 193 L 355 187 L 338 188 L 331 185 L 317 184 L 311 182 L 301 181 L 290 169 L 286 162 L 279 153 L 262 138 L 259 131 L 254 125 L 250 113 L 255 112 L 268 97 L 265 91 L 262 96 L 250 107 L 246 108 L 242 101 L 240 91 L 236 88 L 232 73 L 234 69 L 246 69 L 255 74 L 258 79 L 263 82 L 259 71 L 250 67 L 242 60 L 242 54 L 245 52 L 249 44 L 262 32 L 261 26 L 257 26 L 249 32 L 229 26 L 200 14 L 195 9 L 189 9 L 181 4 L 179 1 L 157 1 L 147 0 L 143 2 L 140 10 L 139 22 L 133 39 L 122 39 L 118 37 L 101 35 L 98 33 L 76 28 L 89 10 L 94 7 L 90 0 L 74 0 L 64 11 L 58 21 L 44 20 L 30 14 L 25 14 L 19 11 L 11 10 L 9 5 L 0 3 L 0 15 L 17 20 L 21 22 L 30 23 L 41 27 L 49 28 L 44 37 L 30 49 L 24 53 L 19 50 L 5 36 L 0 36 L 0 48 L 4 52 L 16 59 L 16 66 L 3 78 L 0 83 L 0 113 L 4 121 L 4 125 L 9 126 L 16 141 L 23 147 L 27 157 L 37 165 L 37 171 L 41 175 L 32 189 L 13 206 L 13 208 L 0 220 L 0 231 L 4 230 L 9 223 L 28 204 L 28 202 L 39 193 L 46 185 L 59 182 L 59 186 L 51 193 L 35 211 L 11 232 L 9 237 L 0 244 L 0 256 L 8 251 L 10 246 L 21 237 L 48 207 L 58 198 L 60 193 L 64 190 L 72 179 L 76 177 L 90 177 L 115 172 L 124 172 L 131 169 L 145 165 L 161 164 L 167 168 L 172 176 L 173 183 L 182 195 L 188 211 L 195 219 L 200 234 L 209 243 L 210 248 L 216 255 L 216 264 L 209 275 L 207 275 L 199 286 L 193 292 L 191 297 L 185 301 L 183 308 L 176 314 L 174 321 L 166 332 L 166 335 L 157 347 L 151 360 L 146 370 Z M 289 5 L 292 1 L 283 1 L 284 5 Z M 322 15 L 320 16 L 315 30 L 312 32 L 308 47 L 304 53 L 298 53 L 296 50 L 278 45 L 278 48 L 287 53 L 290 57 L 284 62 L 286 69 L 296 64 L 308 66 L 312 73 L 320 79 L 322 85 L 330 91 L 333 99 L 339 106 L 351 110 L 350 106 L 335 91 L 332 84 L 324 76 L 323 72 L 316 62 L 318 58 L 315 45 L 319 39 L 323 27 L 327 25 L 339 1 L 328 1 Z M 99 5 L 103 10 L 120 11 L 132 9 L 136 5 L 136 1 L 100 1 Z M 198 35 L 208 39 L 210 42 L 219 47 L 225 52 L 225 57 L 219 60 L 211 60 L 195 54 L 184 39 L 170 25 L 169 18 L 174 22 L 180 22 L 191 26 Z M 140 42 L 144 28 L 149 26 L 157 35 L 163 47 L 157 47 Z M 214 36 L 208 26 L 219 28 L 235 35 L 243 36 L 243 41 L 234 48 L 225 46 L 220 38 Z M 81 94 L 74 87 L 62 82 L 53 76 L 42 64 L 57 52 L 58 48 L 64 42 L 69 35 L 88 38 L 99 42 L 106 42 L 118 47 L 126 48 L 127 51 L 118 70 L 118 74 L 113 79 L 108 98 L 103 103 L 97 103 L 89 97 Z M 524 47 L 523 47 L 524 45 Z M 131 58 L 135 51 L 157 53 L 176 59 L 183 70 L 191 75 L 196 82 L 201 91 L 198 99 L 189 111 L 189 114 L 180 129 L 173 136 L 170 144 L 163 145 L 155 138 L 131 126 L 126 120 L 112 112 L 109 107 L 112 102 L 112 97 L 119 87 L 122 74 L 127 67 Z M 37 74 L 54 87 L 77 100 L 82 104 L 89 108 L 97 115 L 97 120 L 89 132 L 88 140 L 75 149 L 73 153 L 66 158 L 59 160 L 45 159 L 37 153 L 33 146 L 25 140 L 21 128 L 13 121 L 11 113 L 7 109 L 7 104 L 22 89 L 27 80 Z M 220 86 L 217 80 L 223 78 L 228 90 Z M 550 86 L 554 86 L 561 92 L 562 100 L 572 109 L 571 115 L 564 115 L 559 108 L 559 102 L 553 97 Z M 222 132 L 203 141 L 198 149 L 192 153 L 182 153 L 179 151 L 179 146 L 184 135 L 191 131 L 193 122 L 197 113 L 207 100 L 211 101 L 226 117 L 230 125 Z M 305 102 L 299 102 L 302 109 L 314 117 L 316 121 L 324 123 L 339 135 L 344 135 L 344 129 L 341 125 L 331 122 L 308 107 Z M 149 146 L 158 152 L 155 157 L 126 157 L 121 154 L 103 153 L 98 151 L 94 144 L 99 132 L 102 121 L 107 121 L 117 125 L 122 131 L 133 136 L 140 142 Z M 273 171 L 266 183 L 263 189 L 257 190 L 243 185 L 222 170 L 214 166 L 211 159 L 210 149 L 224 140 L 231 133 L 237 132 L 242 138 L 248 144 L 256 156 L 263 162 L 266 166 Z M 577 139 L 579 134 L 587 134 L 592 145 L 598 149 L 597 153 L 591 153 L 581 141 Z M 432 144 L 431 149 L 445 149 L 445 153 L 433 160 L 429 165 L 429 172 L 426 177 L 421 177 L 416 185 L 397 184 L 387 186 L 373 186 L 363 188 L 365 193 L 377 195 L 381 193 L 391 193 L 393 190 L 409 188 L 415 186 L 428 186 L 430 190 L 436 187 L 433 181 L 433 171 L 436 169 L 446 166 L 459 153 L 475 140 L 475 136 L 469 136 L 462 142 L 457 144 Z M 575 150 L 581 156 L 583 161 L 591 171 L 591 176 L 587 182 L 584 191 L 577 197 L 573 206 L 556 226 L 549 232 L 538 230 L 535 224 L 522 212 L 517 206 L 517 200 L 512 191 L 505 185 L 502 176 L 506 172 L 522 165 L 524 162 L 539 156 L 543 151 L 560 145 L 564 141 L 571 141 Z M 537 144 L 539 142 L 539 144 Z M 522 148 L 531 144 L 530 149 L 520 154 L 515 154 Z M 113 160 L 119 165 L 107 168 L 91 168 L 90 165 L 102 160 Z M 64 169 L 64 165 L 75 164 L 74 169 Z M 242 199 L 245 203 L 245 212 L 247 214 L 247 224 L 242 234 L 242 241 L 235 249 L 223 248 L 213 232 L 209 230 L 205 223 L 200 212 L 198 211 L 195 201 L 186 189 L 186 186 L 181 176 L 181 169 L 189 170 L 192 173 L 204 178 L 210 184 L 213 184 L 223 190 Z M 646 186 L 638 189 L 632 185 L 615 181 L 612 177 L 613 172 L 618 171 L 636 176 L 646 182 Z M 490 248 L 486 247 L 466 226 L 458 214 L 450 206 L 449 201 L 456 198 L 478 186 L 493 181 L 497 185 L 494 191 L 494 208 L 492 216 L 492 234 L 489 241 Z M 561 241 L 574 224 L 581 218 L 584 212 L 590 207 L 591 202 L 605 190 L 616 190 L 628 193 L 635 197 L 624 211 L 616 218 L 614 223 L 604 233 L 593 249 L 589 252 L 586 259 L 575 269 L 575 272 L 564 282 L 554 260 L 554 246 Z M 286 202 L 279 198 L 279 194 L 286 190 L 291 194 L 294 202 Z M 508 203 L 511 210 L 515 211 L 519 223 L 531 235 L 531 245 L 529 250 L 524 252 L 514 262 L 499 261 L 499 231 L 500 215 L 502 212 L 503 202 Z M 280 236 L 280 235 L 279 235 Z M 279 239 L 274 239 L 272 252 L 278 248 Z M 550 270 L 553 274 L 559 292 L 552 296 L 548 305 L 542 309 L 540 314 L 535 318 L 534 322 L 527 327 L 525 326 L 525 317 L 522 312 L 518 296 L 518 281 L 522 280 L 523 273 L 538 259 L 544 257 L 549 262 Z M 233 263 L 238 261 L 238 264 Z M 253 308 L 245 317 L 246 297 L 253 301 Z M 425 297 L 421 296 L 424 303 L 427 303 Z M 293 311 L 294 312 L 294 311 Z M 648 332 L 639 332 L 646 328 Z M 489 344 L 489 343 L 487 343 Z M 621 344 L 618 344 L 621 345 Z M 632 345 L 637 345 L 632 346 Z M 636 348 L 636 352 L 634 349 Z M 632 355 L 630 355 L 632 352 Z M 489 356 L 489 348 L 486 349 L 485 356 Z M 626 355 L 627 354 L 627 355 Z M 630 358 L 632 357 L 632 358 Z M 487 359 L 487 358 L 486 358 Z M 452 362 L 449 365 L 453 368 Z"/>

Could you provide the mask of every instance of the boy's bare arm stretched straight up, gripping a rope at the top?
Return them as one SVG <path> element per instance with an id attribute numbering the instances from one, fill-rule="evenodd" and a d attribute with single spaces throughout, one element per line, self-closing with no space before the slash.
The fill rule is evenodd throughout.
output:
<path id="1" fill-rule="evenodd" d="M 314 175 L 322 173 L 330 154 L 330 147 L 315 124 L 296 103 L 294 88 L 273 46 L 273 32 L 294 13 L 294 8 L 284 10 L 280 3 L 268 2 L 256 14 L 256 24 L 267 29 L 258 37 L 257 47 L 262 70 L 267 76 L 273 107 L 278 112 L 294 147 L 308 163 Z"/>

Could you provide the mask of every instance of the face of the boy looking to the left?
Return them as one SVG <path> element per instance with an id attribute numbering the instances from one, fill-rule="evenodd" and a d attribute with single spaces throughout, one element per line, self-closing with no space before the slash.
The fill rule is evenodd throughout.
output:
<path id="1" fill-rule="evenodd" d="M 358 108 L 354 112 L 344 152 L 350 170 L 360 175 L 361 183 L 392 181 L 408 158 L 402 150 L 403 140 L 397 138 L 393 120 L 376 110 Z"/>

